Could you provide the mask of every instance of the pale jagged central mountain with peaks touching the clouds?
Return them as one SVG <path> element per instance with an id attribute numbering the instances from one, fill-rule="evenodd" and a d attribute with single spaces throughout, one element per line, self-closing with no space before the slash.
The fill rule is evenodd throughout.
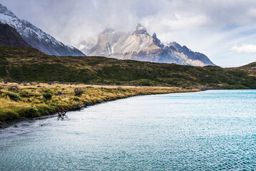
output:
<path id="1" fill-rule="evenodd" d="M 176 42 L 161 43 L 155 33 L 150 36 L 141 24 L 129 33 L 107 28 L 98 35 L 96 45 L 83 52 L 88 56 L 106 56 L 157 63 L 190 66 L 215 65 L 203 53 L 193 52 L 186 46 L 180 46 Z"/>

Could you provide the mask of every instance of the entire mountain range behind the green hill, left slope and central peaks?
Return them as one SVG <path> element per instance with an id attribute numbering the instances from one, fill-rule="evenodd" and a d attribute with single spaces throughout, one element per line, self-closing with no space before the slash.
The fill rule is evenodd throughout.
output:
<path id="1" fill-rule="evenodd" d="M 85 41 L 79 51 L 57 41 L 29 21 L 19 19 L 6 6 L 0 4 L 1 45 L 34 47 L 55 56 L 106 56 L 122 60 L 176 63 L 188 66 L 215 66 L 203 53 L 191 51 L 175 41 L 162 43 L 155 33 L 138 24 L 128 33 L 106 28 L 98 40 Z M 7 42 L 9 41 L 9 42 Z M 85 53 L 85 54 L 84 54 Z"/>

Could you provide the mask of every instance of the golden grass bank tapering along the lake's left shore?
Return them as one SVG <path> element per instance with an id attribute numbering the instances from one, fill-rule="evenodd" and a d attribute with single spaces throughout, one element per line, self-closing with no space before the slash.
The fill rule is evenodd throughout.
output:
<path id="1" fill-rule="evenodd" d="M 19 90 L 11 92 L 10 86 Z M 178 87 L 146 87 L 146 86 L 96 86 L 85 84 L 62 83 L 0 83 L 0 120 L 18 118 L 34 118 L 41 115 L 56 113 L 58 108 L 77 110 L 86 104 L 95 105 L 103 101 L 127 98 L 135 95 L 150 95 L 160 93 L 180 93 L 199 91 L 199 88 L 185 89 Z M 75 95 L 74 89 L 82 88 L 82 95 Z M 51 100 L 43 98 L 43 93 L 50 90 Z M 21 100 L 14 101 L 8 93 L 16 93 Z M 62 93 L 62 95 L 58 95 Z"/>

